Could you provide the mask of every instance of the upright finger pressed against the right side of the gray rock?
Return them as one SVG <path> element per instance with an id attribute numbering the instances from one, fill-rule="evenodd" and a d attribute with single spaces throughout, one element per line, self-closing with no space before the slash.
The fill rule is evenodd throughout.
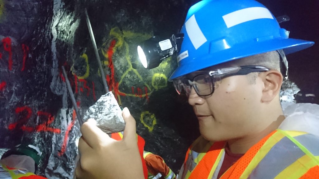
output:
<path id="1" fill-rule="evenodd" d="M 136 121 L 127 107 L 123 109 L 122 116 L 125 121 L 123 140 L 129 140 L 136 144 Z"/>

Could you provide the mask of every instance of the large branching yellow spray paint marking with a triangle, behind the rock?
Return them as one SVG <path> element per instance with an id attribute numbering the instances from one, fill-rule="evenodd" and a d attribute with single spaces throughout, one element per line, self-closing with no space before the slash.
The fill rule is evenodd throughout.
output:
<path id="1" fill-rule="evenodd" d="M 151 34 L 143 34 L 143 33 L 136 33 L 136 32 L 131 32 L 131 31 L 122 31 L 118 28 L 112 28 L 110 31 L 110 37 L 113 37 L 116 40 L 116 44 L 113 48 L 113 54 L 115 54 L 115 52 L 117 50 L 119 51 L 123 51 L 124 52 L 124 56 L 126 61 L 128 62 L 128 68 L 126 69 L 126 71 L 122 74 L 120 80 L 119 80 L 119 86 L 122 84 L 123 79 L 125 78 L 125 76 L 128 73 L 134 73 L 137 78 L 139 78 L 142 82 L 144 81 L 142 76 L 138 73 L 138 71 L 136 69 L 134 69 L 132 67 L 132 62 L 131 62 L 131 57 L 130 57 L 130 47 L 129 44 L 125 41 L 125 39 L 138 39 L 138 40 L 146 40 L 152 37 Z M 125 39 L 124 39 L 125 38 Z M 109 43 L 109 42 L 108 42 Z M 108 47 L 108 44 L 104 43 L 103 44 L 104 47 Z M 102 49 L 102 54 L 103 56 L 108 59 L 108 49 Z M 109 62 L 104 61 L 104 65 L 108 65 Z M 144 85 L 147 88 L 148 93 L 147 94 L 143 94 L 141 97 L 146 97 L 151 95 L 152 93 L 152 89 L 150 88 L 150 85 L 148 85 L 147 83 L 144 83 Z M 122 91 L 119 91 L 120 93 L 124 93 Z M 127 94 L 124 93 L 126 96 L 130 96 L 130 97 L 140 97 L 140 96 L 136 96 L 135 94 Z M 119 104 L 121 105 L 121 96 L 117 95 L 118 99 L 119 99 Z"/>

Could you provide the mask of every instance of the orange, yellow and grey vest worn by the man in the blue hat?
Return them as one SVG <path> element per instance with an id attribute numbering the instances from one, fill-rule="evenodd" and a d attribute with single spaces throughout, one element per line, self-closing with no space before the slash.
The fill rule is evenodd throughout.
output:
<path id="1" fill-rule="evenodd" d="M 226 142 L 198 138 L 185 157 L 183 179 L 216 178 Z M 192 151 L 201 144 L 202 151 Z M 205 144 L 205 145 L 203 145 Z M 197 151 L 198 152 L 198 151 Z M 319 138 L 306 132 L 277 129 L 252 146 L 220 178 L 318 178 Z"/>

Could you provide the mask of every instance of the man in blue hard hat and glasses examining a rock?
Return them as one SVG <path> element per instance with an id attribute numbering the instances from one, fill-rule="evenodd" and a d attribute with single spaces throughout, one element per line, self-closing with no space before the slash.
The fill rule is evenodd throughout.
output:
<path id="1" fill-rule="evenodd" d="M 253 0 L 201 1 L 189 9 L 181 32 L 179 66 L 170 80 L 189 96 L 201 136 L 189 147 L 179 178 L 318 177 L 319 134 L 308 131 L 318 116 L 307 115 L 314 122 L 303 124 L 299 115 L 306 127 L 298 128 L 279 99 L 285 53 L 313 42 L 289 39 L 271 12 Z M 123 117 L 122 143 L 106 138 L 94 120 L 82 126 L 79 178 L 143 178 L 135 121 L 127 108 Z M 125 173 L 116 167 L 122 164 Z"/>

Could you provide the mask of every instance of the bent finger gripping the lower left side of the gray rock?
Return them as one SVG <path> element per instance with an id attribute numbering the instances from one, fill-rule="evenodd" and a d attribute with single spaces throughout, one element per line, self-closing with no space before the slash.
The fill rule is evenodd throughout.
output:
<path id="1" fill-rule="evenodd" d="M 80 130 L 82 137 L 92 148 L 99 146 L 103 140 L 109 138 L 108 135 L 96 126 L 96 121 L 94 119 L 89 119 L 83 123 Z"/>

